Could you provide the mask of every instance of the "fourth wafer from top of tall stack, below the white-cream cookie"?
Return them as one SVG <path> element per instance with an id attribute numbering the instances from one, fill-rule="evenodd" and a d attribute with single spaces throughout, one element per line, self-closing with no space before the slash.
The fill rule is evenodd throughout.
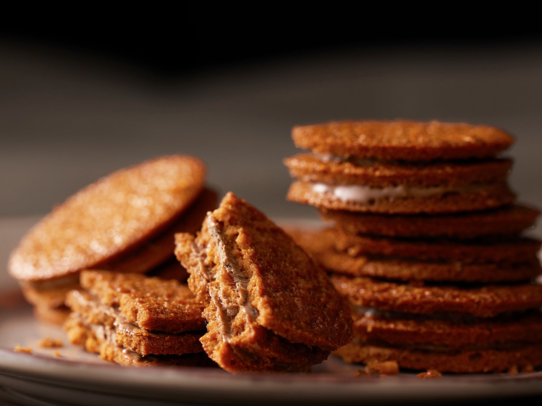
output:
<path id="1" fill-rule="evenodd" d="M 347 234 L 474 239 L 519 234 L 532 227 L 540 211 L 514 204 L 495 210 L 436 216 L 364 214 L 326 209 L 321 210 L 321 215 Z"/>

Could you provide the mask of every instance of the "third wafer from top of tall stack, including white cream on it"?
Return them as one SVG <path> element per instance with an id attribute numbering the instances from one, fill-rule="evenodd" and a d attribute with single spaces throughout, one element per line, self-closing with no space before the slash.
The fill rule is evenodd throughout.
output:
<path id="1" fill-rule="evenodd" d="M 506 183 L 435 188 L 370 188 L 361 185 L 292 183 L 288 200 L 327 210 L 381 214 L 443 214 L 494 209 L 512 204 L 515 198 Z"/>

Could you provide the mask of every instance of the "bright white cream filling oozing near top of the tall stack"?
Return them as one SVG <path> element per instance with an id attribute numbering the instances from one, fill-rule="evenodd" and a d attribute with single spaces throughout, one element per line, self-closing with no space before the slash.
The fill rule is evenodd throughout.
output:
<path id="1" fill-rule="evenodd" d="M 314 193 L 331 194 L 343 202 L 366 204 L 370 201 L 388 199 L 390 202 L 400 197 L 429 197 L 444 193 L 469 193 L 483 190 L 488 185 L 436 186 L 433 188 L 411 188 L 409 186 L 388 186 L 371 188 L 364 185 L 329 185 L 327 183 L 309 182 Z"/>

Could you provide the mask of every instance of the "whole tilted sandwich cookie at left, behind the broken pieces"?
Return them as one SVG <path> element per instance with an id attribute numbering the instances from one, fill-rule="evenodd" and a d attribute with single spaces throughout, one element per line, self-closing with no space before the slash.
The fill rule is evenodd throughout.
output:
<path id="1" fill-rule="evenodd" d="M 62 324 L 67 292 L 82 269 L 182 275 L 173 235 L 195 232 L 216 207 L 204 189 L 203 163 L 167 156 L 122 169 L 80 190 L 25 235 L 11 254 L 9 272 L 36 315 Z"/>

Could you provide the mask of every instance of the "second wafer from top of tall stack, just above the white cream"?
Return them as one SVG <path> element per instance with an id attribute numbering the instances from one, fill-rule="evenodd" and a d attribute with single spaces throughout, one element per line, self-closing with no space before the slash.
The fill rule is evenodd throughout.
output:
<path id="1" fill-rule="evenodd" d="M 371 188 L 396 185 L 430 188 L 504 182 L 512 165 L 509 159 L 399 163 L 328 158 L 306 153 L 286 158 L 284 163 L 290 175 L 301 181 Z"/>

